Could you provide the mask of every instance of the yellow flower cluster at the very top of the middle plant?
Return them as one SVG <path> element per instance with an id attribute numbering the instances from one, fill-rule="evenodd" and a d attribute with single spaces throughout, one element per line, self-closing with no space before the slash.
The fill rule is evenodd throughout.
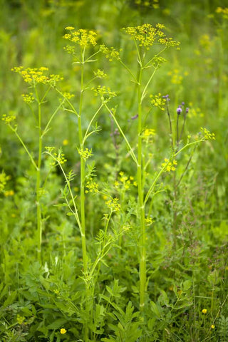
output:
<path id="1" fill-rule="evenodd" d="M 74 31 L 75 28 L 71 26 L 66 27 L 66 30 L 69 31 L 69 33 L 66 33 L 63 38 L 68 39 L 68 41 L 79 44 L 84 48 L 89 45 L 95 46 L 97 44 L 97 33 L 95 31 L 85 30 L 83 28 L 80 28 L 78 31 Z"/>

